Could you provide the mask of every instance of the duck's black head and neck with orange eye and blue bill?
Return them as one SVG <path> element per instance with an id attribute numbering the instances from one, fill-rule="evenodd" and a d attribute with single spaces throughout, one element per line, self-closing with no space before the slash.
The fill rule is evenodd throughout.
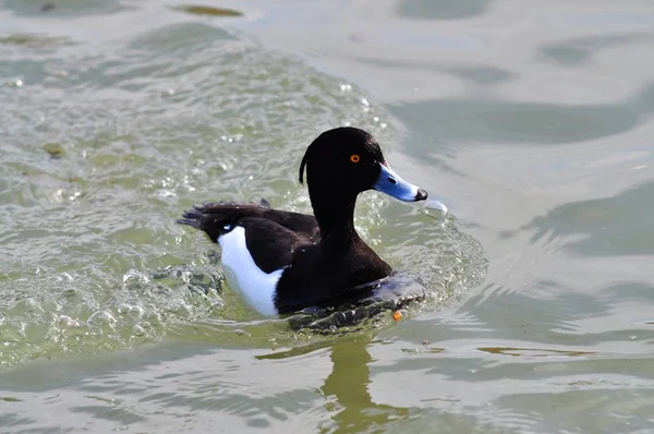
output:
<path id="1" fill-rule="evenodd" d="M 427 192 L 400 178 L 377 141 L 363 130 L 341 126 L 322 133 L 306 149 L 300 182 L 306 182 L 318 222 L 351 224 L 359 193 L 377 190 L 405 202 L 424 201 Z M 341 210 L 344 215 L 341 215 Z"/>

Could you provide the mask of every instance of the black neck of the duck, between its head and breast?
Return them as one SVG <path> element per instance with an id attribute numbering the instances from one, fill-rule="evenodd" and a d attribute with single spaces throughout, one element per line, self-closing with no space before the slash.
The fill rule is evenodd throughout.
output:
<path id="1" fill-rule="evenodd" d="M 320 239 L 323 244 L 330 245 L 351 245 L 359 240 L 359 234 L 354 229 L 354 197 L 334 197 L 318 195 L 310 192 L 312 206 L 318 227 L 320 228 Z M 320 200 L 316 200 L 319 196 Z M 325 200 L 325 197 L 330 197 Z"/>

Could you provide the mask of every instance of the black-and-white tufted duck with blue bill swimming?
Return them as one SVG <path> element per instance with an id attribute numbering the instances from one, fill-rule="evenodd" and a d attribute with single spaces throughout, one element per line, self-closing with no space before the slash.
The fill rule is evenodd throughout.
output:
<path id="1" fill-rule="evenodd" d="M 177 220 L 220 244 L 229 287 L 265 316 L 355 299 L 359 288 L 391 274 L 354 228 L 360 193 L 376 190 L 404 202 L 427 198 L 425 190 L 390 168 L 377 141 L 358 128 L 319 134 L 302 158 L 300 183 L 305 172 L 313 216 L 271 209 L 262 200 L 195 206 Z"/>

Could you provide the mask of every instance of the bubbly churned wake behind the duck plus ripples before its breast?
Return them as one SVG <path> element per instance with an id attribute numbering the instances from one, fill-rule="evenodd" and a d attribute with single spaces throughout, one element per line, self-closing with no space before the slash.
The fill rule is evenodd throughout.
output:
<path id="1" fill-rule="evenodd" d="M 21 61 L 12 65 L 20 72 Z M 3 94 L 0 361 L 9 365 L 132 347 L 195 321 L 217 324 L 211 339 L 233 334 L 225 321 L 245 327 L 254 315 L 223 293 L 207 240 L 174 218 L 207 200 L 266 197 L 310 212 L 296 173 L 313 136 L 342 123 L 393 136 L 350 85 L 203 23 L 157 27 L 74 62 L 32 61 Z M 383 237 L 389 207 L 367 195 L 362 232 L 388 246 L 389 261 L 426 274 L 437 298 L 483 273 L 455 222 L 427 210 L 396 205 L 388 215 L 404 225 Z M 416 228 L 431 232 L 426 243 Z"/>

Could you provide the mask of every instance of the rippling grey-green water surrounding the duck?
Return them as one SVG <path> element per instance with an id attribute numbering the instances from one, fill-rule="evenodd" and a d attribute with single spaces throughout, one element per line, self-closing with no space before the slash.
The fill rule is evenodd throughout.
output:
<path id="1" fill-rule="evenodd" d="M 2 432 L 654 429 L 649 2 L 53 4 L 0 5 Z M 363 194 L 429 298 L 292 333 L 174 218 L 310 212 L 339 124 L 451 214 Z"/>

